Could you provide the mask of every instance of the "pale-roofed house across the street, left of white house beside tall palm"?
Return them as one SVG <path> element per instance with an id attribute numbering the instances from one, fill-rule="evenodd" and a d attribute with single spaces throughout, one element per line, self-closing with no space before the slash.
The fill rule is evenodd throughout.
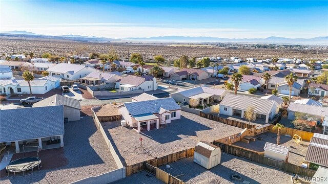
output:
<path id="1" fill-rule="evenodd" d="M 80 82 L 87 85 L 100 85 L 100 84 L 112 84 L 115 86 L 117 80 L 121 79 L 119 72 L 103 73 L 103 72 L 92 72 L 86 77 L 80 78 Z"/>

